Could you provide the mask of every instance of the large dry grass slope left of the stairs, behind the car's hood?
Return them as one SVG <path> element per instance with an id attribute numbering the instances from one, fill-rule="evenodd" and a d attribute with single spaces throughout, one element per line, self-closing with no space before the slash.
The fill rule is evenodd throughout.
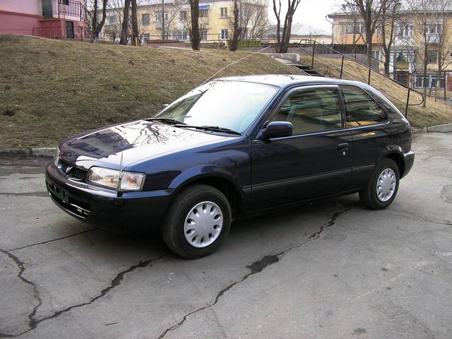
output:
<path id="1" fill-rule="evenodd" d="M 0 148 L 150 117 L 246 54 L 0 35 Z M 293 69 L 256 54 L 218 76 L 254 73 Z"/>

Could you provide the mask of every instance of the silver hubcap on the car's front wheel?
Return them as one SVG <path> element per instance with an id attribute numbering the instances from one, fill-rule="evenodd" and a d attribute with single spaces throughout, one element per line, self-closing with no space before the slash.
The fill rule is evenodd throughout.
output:
<path id="1" fill-rule="evenodd" d="M 212 201 L 203 201 L 191 208 L 185 218 L 185 239 L 191 246 L 209 246 L 218 238 L 223 227 L 223 213 Z"/>

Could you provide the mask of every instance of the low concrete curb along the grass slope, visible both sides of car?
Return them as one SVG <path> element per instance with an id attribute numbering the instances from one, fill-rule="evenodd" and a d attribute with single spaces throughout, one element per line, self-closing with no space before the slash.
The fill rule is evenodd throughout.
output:
<path id="1" fill-rule="evenodd" d="M 420 129 L 412 128 L 413 134 L 418 133 L 447 133 L 452 132 L 452 124 L 443 124 Z M 53 157 L 56 147 L 19 147 L 0 149 L 0 157 Z"/>

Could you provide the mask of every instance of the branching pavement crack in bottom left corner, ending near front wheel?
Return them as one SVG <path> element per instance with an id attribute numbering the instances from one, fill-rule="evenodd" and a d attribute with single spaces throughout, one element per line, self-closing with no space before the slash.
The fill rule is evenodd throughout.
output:
<path id="1" fill-rule="evenodd" d="M 14 256 L 11 253 L 8 253 L 6 251 L 3 251 L 0 249 L 0 251 L 2 251 L 4 254 L 6 254 L 7 256 L 10 256 L 10 258 L 13 258 L 13 260 L 16 263 L 20 263 L 20 265 L 22 265 L 22 263 L 19 261 L 19 259 Z M 44 318 L 41 319 L 35 319 L 35 314 L 37 311 L 37 308 L 40 307 L 40 305 L 42 304 L 41 299 L 39 300 L 39 303 L 36 307 L 33 307 L 33 311 L 32 313 L 30 313 L 28 315 L 28 319 L 30 319 L 28 326 L 30 328 L 28 328 L 28 330 L 25 330 L 21 333 L 18 334 L 8 334 L 8 333 L 1 333 L 0 332 L 0 337 L 5 337 L 5 338 L 16 338 L 20 335 L 23 335 L 27 332 L 30 332 L 32 330 L 34 330 L 40 323 L 42 323 L 42 321 L 47 321 L 49 319 L 54 319 L 57 318 L 58 316 L 61 316 L 61 314 L 66 313 L 67 311 L 71 311 L 71 309 L 76 309 L 78 307 L 84 307 L 84 306 L 88 306 L 89 304 L 92 304 L 93 302 L 95 302 L 97 299 L 100 299 L 102 297 L 105 297 L 105 295 L 107 295 L 108 292 L 110 292 L 111 290 L 114 289 L 114 287 L 117 287 L 119 285 L 121 285 L 122 280 L 124 279 L 124 275 L 126 275 L 127 273 L 131 273 L 133 270 L 136 270 L 137 268 L 145 268 L 147 266 L 150 265 L 150 263 L 152 263 L 153 261 L 157 261 L 165 256 L 167 256 L 168 254 L 162 254 L 161 256 L 157 256 L 156 258 L 150 258 L 146 261 L 139 261 L 137 264 L 130 266 L 129 268 L 127 268 L 126 270 L 123 270 L 121 272 L 119 272 L 111 281 L 111 283 L 109 284 L 109 286 L 105 287 L 102 291 L 100 291 L 100 294 L 96 295 L 95 297 L 91 298 L 89 302 L 83 302 L 81 304 L 76 304 L 76 305 L 72 305 L 70 307 L 66 307 L 65 309 L 61 309 L 59 311 L 54 312 L 54 314 L 50 315 L 50 316 L 45 316 Z M 17 261 L 16 261 L 17 260 Z M 152 265 L 150 265 L 152 267 Z M 21 266 L 19 266 L 20 268 Z M 23 267 L 23 265 L 22 265 Z M 25 270 L 25 268 L 21 269 L 20 271 L 20 275 L 23 273 L 23 270 Z M 37 297 L 39 298 L 39 293 L 37 292 L 37 288 L 36 285 L 32 282 L 30 282 L 29 280 L 26 280 L 25 278 L 22 278 L 20 275 L 18 275 L 21 279 L 23 279 L 26 283 L 29 283 L 30 285 L 32 285 L 33 287 L 35 287 L 35 292 L 37 293 Z"/>

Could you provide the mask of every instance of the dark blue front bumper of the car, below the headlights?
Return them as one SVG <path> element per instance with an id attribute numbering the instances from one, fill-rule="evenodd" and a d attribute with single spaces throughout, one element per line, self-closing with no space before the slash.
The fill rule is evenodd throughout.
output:
<path id="1" fill-rule="evenodd" d="M 172 197 L 169 190 L 118 196 L 116 191 L 69 179 L 53 163 L 47 165 L 45 181 L 50 198 L 66 213 L 117 232 L 159 228 Z"/>

